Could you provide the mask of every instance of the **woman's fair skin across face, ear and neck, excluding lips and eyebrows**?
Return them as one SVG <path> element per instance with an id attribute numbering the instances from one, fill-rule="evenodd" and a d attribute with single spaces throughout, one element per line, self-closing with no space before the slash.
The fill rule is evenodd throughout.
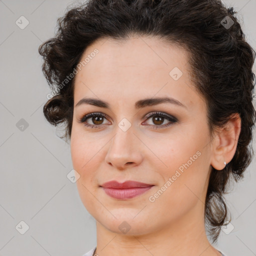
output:
<path id="1" fill-rule="evenodd" d="M 89 104 L 74 107 L 70 149 L 73 168 L 79 173 L 76 184 L 81 201 L 96 220 L 96 253 L 219 256 L 205 234 L 204 202 L 211 166 L 222 171 L 224 161 L 228 163 L 235 153 L 239 115 L 225 129 L 215 130 L 210 139 L 206 104 L 193 88 L 188 53 L 173 43 L 155 37 L 131 37 L 125 42 L 104 38 L 87 47 L 82 59 L 95 48 L 99 52 L 75 76 L 74 106 L 83 97 L 93 97 L 107 101 L 110 109 Z M 178 80 L 169 75 L 174 67 L 183 73 Z M 186 107 L 167 102 L 134 107 L 137 100 L 161 96 L 173 97 Z M 178 121 L 144 118 L 154 111 Z M 92 112 L 107 116 L 98 122 L 86 120 L 99 128 L 78 121 Z M 127 131 L 118 126 L 123 118 L 131 124 Z M 198 151 L 197 159 L 158 198 L 149 201 Z M 121 200 L 99 187 L 109 180 L 154 186 Z M 118 228 L 123 221 L 130 226 L 127 233 Z"/>

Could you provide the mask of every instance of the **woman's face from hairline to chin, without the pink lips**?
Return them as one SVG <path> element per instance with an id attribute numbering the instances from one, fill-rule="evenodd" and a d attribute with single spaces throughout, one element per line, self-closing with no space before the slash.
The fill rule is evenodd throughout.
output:
<path id="1" fill-rule="evenodd" d="M 206 105 L 193 89 L 187 53 L 141 37 L 98 40 L 86 48 L 85 58 L 75 77 L 70 146 L 88 212 L 110 231 L 122 233 L 126 225 L 129 234 L 201 220 L 212 149 Z M 162 97 L 170 100 L 155 101 Z M 76 106 L 82 98 L 108 107 Z M 147 98 L 152 100 L 143 103 Z M 79 122 L 89 113 L 97 114 Z M 120 199 L 100 187 L 110 180 L 153 186 Z"/>

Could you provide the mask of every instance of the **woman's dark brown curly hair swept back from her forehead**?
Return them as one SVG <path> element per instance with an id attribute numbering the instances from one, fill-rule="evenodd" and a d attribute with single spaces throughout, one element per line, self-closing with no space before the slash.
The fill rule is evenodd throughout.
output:
<path id="1" fill-rule="evenodd" d="M 39 46 L 42 71 L 54 92 L 43 113 L 49 123 L 65 124 L 61 138 L 69 140 L 75 76 L 67 79 L 67 75 L 76 70 L 88 45 L 99 38 L 125 40 L 146 35 L 187 50 L 191 79 L 207 104 L 211 136 L 214 128 L 222 127 L 234 113 L 241 118 L 232 160 L 222 171 L 211 166 L 204 219 L 213 242 L 229 213 L 223 198 L 227 181 L 243 177 L 253 155 L 255 51 L 246 42 L 235 14 L 220 0 L 88 0 L 67 9 L 57 19 L 55 36 Z"/>

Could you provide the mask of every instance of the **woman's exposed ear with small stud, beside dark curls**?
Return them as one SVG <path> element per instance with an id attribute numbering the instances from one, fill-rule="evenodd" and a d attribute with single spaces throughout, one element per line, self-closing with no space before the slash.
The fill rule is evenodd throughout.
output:
<path id="1" fill-rule="evenodd" d="M 238 113 L 230 116 L 224 127 L 219 127 L 212 141 L 211 166 L 221 170 L 234 156 L 239 134 L 241 118 Z"/>

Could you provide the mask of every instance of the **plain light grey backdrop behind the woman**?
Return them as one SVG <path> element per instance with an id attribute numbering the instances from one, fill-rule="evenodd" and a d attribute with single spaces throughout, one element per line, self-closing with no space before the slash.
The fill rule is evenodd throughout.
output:
<path id="1" fill-rule="evenodd" d="M 74 3 L 0 0 L 0 255 L 78 256 L 96 245 L 95 220 L 66 177 L 72 169 L 69 144 L 42 113 L 50 89 L 38 46 L 54 35 L 57 17 Z M 224 3 L 238 11 L 255 49 L 256 0 Z M 24 29 L 15 23 L 21 15 L 29 21 Z M 24 122 L 21 118 L 28 124 L 23 131 L 16 125 Z M 228 234 L 221 230 L 214 246 L 227 256 L 256 255 L 255 166 L 253 159 L 244 179 L 225 197 L 234 228 Z M 29 226 L 24 234 L 15 228 L 21 220 Z"/>

